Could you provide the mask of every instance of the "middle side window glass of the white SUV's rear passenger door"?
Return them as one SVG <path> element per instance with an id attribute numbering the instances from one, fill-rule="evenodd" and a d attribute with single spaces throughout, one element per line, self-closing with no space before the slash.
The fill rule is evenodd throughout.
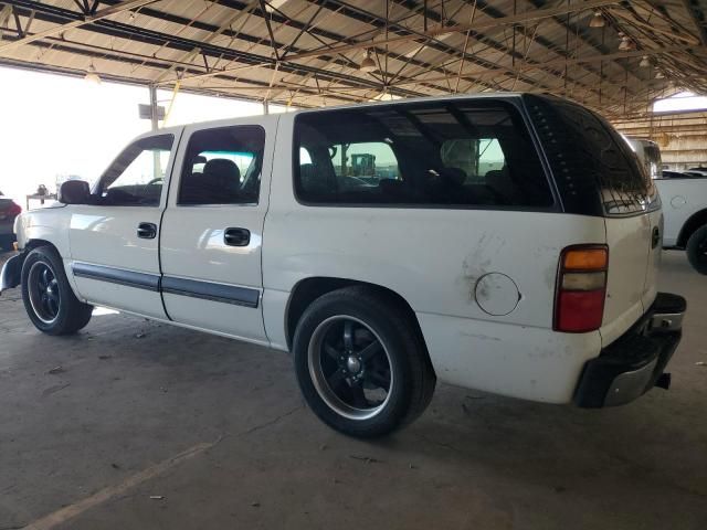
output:
<path id="1" fill-rule="evenodd" d="M 256 204 L 265 131 L 258 126 L 220 127 L 191 135 L 178 203 Z"/>

